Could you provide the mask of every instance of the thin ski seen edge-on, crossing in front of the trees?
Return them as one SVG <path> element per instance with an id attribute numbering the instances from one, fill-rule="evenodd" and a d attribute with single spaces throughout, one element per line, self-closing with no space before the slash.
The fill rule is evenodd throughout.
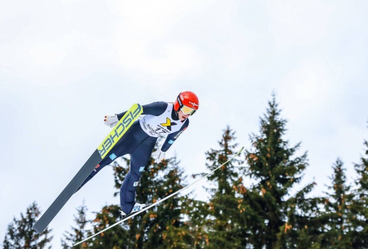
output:
<path id="1" fill-rule="evenodd" d="M 150 209 L 150 208 L 153 208 L 154 206 L 156 206 L 156 205 L 158 205 L 159 203 L 161 203 L 161 202 L 163 202 L 163 201 L 165 201 L 165 200 L 169 199 L 170 197 L 173 197 L 174 195 L 179 194 L 179 193 L 180 193 L 180 192 L 182 192 L 184 189 L 187 189 L 188 187 L 190 187 L 190 186 L 194 185 L 195 183 L 199 182 L 199 181 L 200 181 L 200 180 L 202 180 L 203 178 L 206 178 L 207 176 L 209 176 L 210 174 L 212 174 L 213 172 L 215 172 L 216 170 L 218 170 L 219 168 L 221 168 L 223 165 L 225 165 L 226 163 L 230 162 L 232 159 L 234 159 L 234 157 L 238 156 L 238 155 L 243 151 L 243 149 L 244 149 L 244 146 L 243 146 L 243 147 L 241 147 L 241 149 L 240 149 L 240 150 L 239 150 L 235 155 L 233 155 L 229 160 L 227 160 L 226 162 L 224 162 L 223 164 L 221 164 L 220 166 L 218 166 L 217 168 L 215 168 L 214 170 L 212 170 L 212 171 L 211 171 L 211 172 L 209 172 L 208 174 L 206 174 L 206 175 L 202 176 L 202 177 L 201 177 L 201 178 L 199 178 L 198 180 L 196 180 L 196 181 L 194 181 L 194 182 L 190 183 L 189 185 L 185 186 L 184 188 L 182 188 L 182 189 L 178 190 L 177 192 L 172 193 L 171 195 L 168 195 L 167 197 L 160 199 L 159 201 L 157 201 L 157 202 L 155 202 L 155 203 L 151 204 L 150 206 L 145 207 L 145 208 L 141 209 L 140 211 L 135 212 L 135 213 L 133 213 L 133 214 L 129 215 L 128 217 L 124 217 L 122 220 L 120 220 L 120 221 L 118 221 L 118 222 L 116 222 L 116 223 L 112 224 L 111 226 L 109 226 L 109 227 L 107 227 L 107 228 L 105 228 L 105 229 L 103 229 L 103 230 L 99 231 L 98 233 L 96 233 L 96 234 L 94 234 L 94 235 L 92 235 L 92 236 L 88 237 L 87 239 L 84 239 L 83 241 L 80 241 L 80 242 L 78 242 L 78 243 L 74 244 L 74 245 L 73 245 L 73 247 L 75 247 L 75 246 L 77 246 L 77 245 L 79 245 L 79 244 L 81 244 L 81 243 L 83 243 L 83 242 L 85 242 L 85 241 L 88 241 L 89 239 L 92 239 L 93 237 L 95 237 L 95 236 L 97 236 L 97 235 L 99 235 L 99 234 L 101 234 L 101 233 L 105 232 L 106 230 L 108 230 L 108 229 L 110 229 L 110 228 L 113 228 L 113 227 L 115 227 L 116 225 L 119 225 L 120 223 L 122 223 L 122 222 L 124 222 L 124 221 L 126 221 L 126 220 L 128 220 L 128 219 L 130 219 L 130 218 L 133 218 L 134 216 L 136 216 L 136 215 L 138 215 L 138 214 L 140 214 L 140 213 L 142 213 L 142 212 L 144 212 L 144 211 L 146 211 L 146 210 L 148 210 L 148 209 Z"/>

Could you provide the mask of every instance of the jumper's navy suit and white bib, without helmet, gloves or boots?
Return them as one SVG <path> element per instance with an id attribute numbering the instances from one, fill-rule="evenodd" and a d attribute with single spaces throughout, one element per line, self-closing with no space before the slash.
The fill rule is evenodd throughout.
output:
<path id="1" fill-rule="evenodd" d="M 95 174 L 116 158 L 130 154 L 130 169 L 120 188 L 120 206 L 126 214 L 133 209 L 135 190 L 138 186 L 139 178 L 151 157 L 157 138 L 168 135 L 161 148 L 162 151 L 167 151 L 189 125 L 188 119 L 184 121 L 179 119 L 178 113 L 174 110 L 174 105 L 171 103 L 154 102 L 144 105 L 142 108 L 142 114 L 145 116 L 132 124 L 110 150 L 109 156 L 102 159 L 78 188 L 80 190 Z M 119 114 L 117 116 L 118 119 L 120 120 L 125 113 Z"/>

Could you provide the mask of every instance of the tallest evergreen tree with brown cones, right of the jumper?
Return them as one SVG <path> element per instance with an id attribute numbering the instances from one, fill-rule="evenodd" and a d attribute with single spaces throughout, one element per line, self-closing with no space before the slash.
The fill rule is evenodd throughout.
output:
<path id="1" fill-rule="evenodd" d="M 306 198 L 313 183 L 295 196 L 289 194 L 300 182 L 308 163 L 306 152 L 295 156 L 300 143 L 290 147 L 284 140 L 285 125 L 273 95 L 260 119 L 260 134 L 250 136 L 252 149 L 246 150 L 249 168 L 245 174 L 252 185 L 249 188 L 241 182 L 238 185 L 243 196 L 238 206 L 242 214 L 239 221 L 248 229 L 248 242 L 255 248 L 294 248 L 298 241 L 308 241 L 309 246 L 313 243 L 308 240 L 308 234 L 312 233 L 305 230 L 313 229 L 312 210 L 317 208 L 318 199 Z"/>

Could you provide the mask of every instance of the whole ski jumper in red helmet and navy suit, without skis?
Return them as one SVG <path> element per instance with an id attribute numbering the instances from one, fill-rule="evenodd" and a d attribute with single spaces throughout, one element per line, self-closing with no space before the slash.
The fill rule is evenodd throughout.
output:
<path id="1" fill-rule="evenodd" d="M 160 163 L 165 159 L 165 152 L 188 127 L 188 117 L 193 115 L 198 110 L 198 107 L 198 97 L 189 91 L 180 93 L 175 103 L 154 102 L 142 106 L 142 114 L 145 116 L 132 124 L 110 150 L 109 156 L 102 159 L 78 190 L 104 166 L 109 165 L 117 157 L 130 154 L 130 169 L 120 188 L 121 215 L 124 216 L 137 212 L 150 205 L 136 203 L 135 190 L 138 186 L 139 178 L 150 159 L 157 138 L 167 135 L 161 149 L 152 153 L 155 162 Z M 105 124 L 110 127 L 115 126 L 125 113 L 106 116 Z"/>

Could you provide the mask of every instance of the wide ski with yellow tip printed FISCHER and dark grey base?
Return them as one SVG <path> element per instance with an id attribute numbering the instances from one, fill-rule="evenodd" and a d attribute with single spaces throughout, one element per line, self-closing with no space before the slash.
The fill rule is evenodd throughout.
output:
<path id="1" fill-rule="evenodd" d="M 111 132 L 105 137 L 101 144 L 92 153 L 87 162 L 82 166 L 78 173 L 73 177 L 70 183 L 64 188 L 60 195 L 55 199 L 51 206 L 41 216 L 41 218 L 34 224 L 33 229 L 41 234 L 59 211 L 64 207 L 70 197 L 81 186 L 84 180 L 91 174 L 94 167 L 101 162 L 101 160 L 114 147 L 129 127 L 142 114 L 143 108 L 139 104 L 134 104 L 120 119 L 120 121 L 113 127 Z"/>

